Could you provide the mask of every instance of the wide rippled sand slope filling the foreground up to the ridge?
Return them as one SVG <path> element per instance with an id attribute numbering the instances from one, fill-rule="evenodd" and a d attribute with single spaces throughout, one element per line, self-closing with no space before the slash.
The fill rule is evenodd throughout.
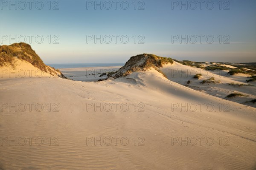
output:
<path id="1" fill-rule="evenodd" d="M 0 93 L 1 103 L 44 106 L 41 112 L 9 111 L 1 104 L 1 139 L 34 137 L 31 146 L 28 139 L 17 146 L 2 141 L 2 169 L 255 168 L 255 108 L 195 91 L 155 70 L 102 82 L 1 78 Z M 37 137 L 44 139 L 41 146 Z M 103 138 L 102 146 L 89 142 L 94 137 Z"/>

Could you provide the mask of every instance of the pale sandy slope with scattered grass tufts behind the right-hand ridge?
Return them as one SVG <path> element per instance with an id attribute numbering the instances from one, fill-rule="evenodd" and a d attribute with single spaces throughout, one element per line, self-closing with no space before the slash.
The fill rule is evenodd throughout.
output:
<path id="1" fill-rule="evenodd" d="M 223 99 L 227 99 L 226 96 L 231 93 L 241 93 L 246 96 L 234 97 L 228 100 L 238 102 L 244 105 L 249 105 L 256 107 L 256 103 L 248 102 L 252 99 L 256 99 L 256 82 L 247 83 L 246 80 L 249 79 L 250 75 L 247 74 L 235 74 L 230 76 L 227 74 L 228 71 L 225 70 L 215 70 L 206 71 L 201 68 L 193 68 L 188 65 L 182 65 L 180 63 L 174 62 L 174 64 L 165 65 L 160 69 L 166 74 L 167 78 L 171 81 L 180 83 L 181 85 L 186 85 L 189 88 L 201 91 L 213 96 L 217 96 Z M 200 79 L 194 79 L 195 74 L 202 74 Z M 211 77 L 215 78 L 215 81 L 220 81 L 220 83 L 215 84 L 200 84 L 202 80 L 209 79 Z M 187 84 L 188 81 L 191 83 Z M 250 86 L 232 86 L 229 83 L 244 84 Z M 246 102 L 246 103 L 245 103 Z"/>

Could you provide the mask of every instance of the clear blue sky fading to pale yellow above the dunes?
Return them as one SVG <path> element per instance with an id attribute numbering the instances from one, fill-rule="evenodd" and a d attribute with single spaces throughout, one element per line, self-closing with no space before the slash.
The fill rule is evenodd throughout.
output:
<path id="1" fill-rule="evenodd" d="M 256 62 L 255 0 L 0 0 L 0 5 L 0 44 L 26 39 L 45 63 L 120 63 L 143 53 Z"/>

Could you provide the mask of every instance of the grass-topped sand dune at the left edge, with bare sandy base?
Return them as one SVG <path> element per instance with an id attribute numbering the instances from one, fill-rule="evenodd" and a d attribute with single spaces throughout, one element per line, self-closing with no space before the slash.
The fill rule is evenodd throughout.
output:
<path id="1" fill-rule="evenodd" d="M 0 45 L 0 71 L 3 77 L 61 77 L 61 71 L 45 65 L 29 44 Z"/>

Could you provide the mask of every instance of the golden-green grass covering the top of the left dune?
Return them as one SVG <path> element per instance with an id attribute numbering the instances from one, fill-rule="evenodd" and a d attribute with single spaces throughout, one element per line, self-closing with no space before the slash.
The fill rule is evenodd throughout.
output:
<path id="1" fill-rule="evenodd" d="M 42 71 L 47 71 L 46 65 L 41 58 L 32 50 L 29 44 L 24 42 L 14 43 L 12 45 L 0 46 L 0 66 L 10 64 L 15 66 L 14 59 L 23 59 L 30 62 Z"/>

